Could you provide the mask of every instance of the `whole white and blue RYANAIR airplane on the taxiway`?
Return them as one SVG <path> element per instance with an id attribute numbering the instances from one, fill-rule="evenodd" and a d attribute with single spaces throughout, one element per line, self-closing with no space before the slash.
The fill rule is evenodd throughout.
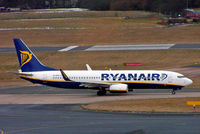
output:
<path id="1" fill-rule="evenodd" d="M 13 39 L 20 70 L 19 77 L 32 83 L 60 88 L 96 89 L 98 96 L 128 93 L 133 89 L 177 90 L 192 84 L 184 75 L 162 70 L 62 70 L 43 65 L 21 39 Z"/>

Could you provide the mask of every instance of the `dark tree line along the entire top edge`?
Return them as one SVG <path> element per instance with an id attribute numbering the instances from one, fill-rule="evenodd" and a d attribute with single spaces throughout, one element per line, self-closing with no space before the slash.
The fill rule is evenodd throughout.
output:
<path id="1" fill-rule="evenodd" d="M 0 0 L 0 6 L 19 8 L 59 8 L 72 0 Z M 70 6 L 67 6 L 70 7 Z M 200 0 L 78 0 L 76 7 L 90 10 L 145 10 L 165 14 L 180 12 L 183 9 L 200 8 Z"/>

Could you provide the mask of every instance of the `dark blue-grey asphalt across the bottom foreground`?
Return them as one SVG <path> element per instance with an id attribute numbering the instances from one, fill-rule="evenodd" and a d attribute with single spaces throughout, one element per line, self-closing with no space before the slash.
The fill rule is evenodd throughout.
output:
<path id="1" fill-rule="evenodd" d="M 77 105 L 0 105 L 6 134 L 199 134 L 200 115 L 88 112 Z"/>

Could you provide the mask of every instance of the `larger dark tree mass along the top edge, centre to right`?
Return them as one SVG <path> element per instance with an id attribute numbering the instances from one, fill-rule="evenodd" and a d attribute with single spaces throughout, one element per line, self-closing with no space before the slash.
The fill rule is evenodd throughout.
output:
<path id="1" fill-rule="evenodd" d="M 169 14 L 200 8 L 200 0 L 79 0 L 78 6 L 90 10 L 145 10 Z"/>

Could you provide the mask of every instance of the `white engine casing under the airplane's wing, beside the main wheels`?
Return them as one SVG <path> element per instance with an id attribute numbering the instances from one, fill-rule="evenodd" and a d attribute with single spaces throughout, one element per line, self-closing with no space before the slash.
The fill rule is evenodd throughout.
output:
<path id="1" fill-rule="evenodd" d="M 111 93 L 127 93 L 128 85 L 127 84 L 113 84 L 110 86 L 109 91 Z"/>

